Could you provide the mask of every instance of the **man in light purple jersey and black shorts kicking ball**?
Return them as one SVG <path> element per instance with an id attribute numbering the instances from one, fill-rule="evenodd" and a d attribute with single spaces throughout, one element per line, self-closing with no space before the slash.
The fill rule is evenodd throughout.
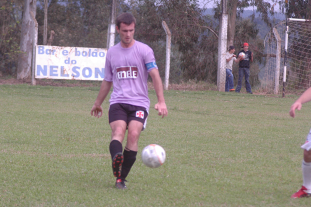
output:
<path id="1" fill-rule="evenodd" d="M 168 112 L 153 50 L 134 40 L 135 17 L 130 13 L 122 13 L 116 22 L 121 42 L 109 48 L 107 52 L 104 80 L 91 109 L 91 115 L 94 113 L 95 117 L 101 117 L 101 104 L 113 84 L 113 92 L 109 99 L 109 124 L 112 130 L 109 151 L 112 170 L 117 177 L 115 186 L 118 189 L 127 189 L 124 181 L 136 160 L 139 135 L 146 127 L 150 107 L 148 74 L 152 78 L 158 98 L 155 109 L 162 118 L 167 116 Z M 127 142 L 122 153 L 122 142 L 127 129 Z"/>

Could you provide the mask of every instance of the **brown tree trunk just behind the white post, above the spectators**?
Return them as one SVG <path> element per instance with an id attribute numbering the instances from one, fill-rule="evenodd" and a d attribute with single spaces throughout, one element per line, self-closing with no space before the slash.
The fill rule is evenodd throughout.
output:
<path id="1" fill-rule="evenodd" d="M 228 47 L 230 45 L 233 45 L 234 43 L 237 6 L 238 6 L 238 0 L 232 0 L 230 1 L 230 5 L 228 5 L 227 7 L 227 11 L 228 11 L 227 46 Z"/>

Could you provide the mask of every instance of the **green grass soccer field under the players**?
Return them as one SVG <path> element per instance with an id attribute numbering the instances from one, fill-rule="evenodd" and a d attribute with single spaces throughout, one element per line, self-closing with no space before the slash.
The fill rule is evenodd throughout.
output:
<path id="1" fill-rule="evenodd" d="M 90 115 L 99 87 L 0 85 L 0 206 L 310 206 L 290 199 L 302 185 L 300 145 L 311 104 L 288 114 L 286 98 L 217 91 L 165 91 L 153 109 L 128 190 L 114 188 L 105 113 Z M 156 143 L 163 166 L 142 164 Z M 125 144 L 125 143 L 123 143 Z"/>

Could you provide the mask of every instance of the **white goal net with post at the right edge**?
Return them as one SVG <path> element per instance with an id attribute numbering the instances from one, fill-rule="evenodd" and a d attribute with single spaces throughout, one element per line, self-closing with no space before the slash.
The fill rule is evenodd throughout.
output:
<path id="1" fill-rule="evenodd" d="M 264 44 L 267 56 L 262 90 L 280 94 L 284 89 L 297 91 L 311 86 L 311 20 L 289 18 L 279 22 Z"/>

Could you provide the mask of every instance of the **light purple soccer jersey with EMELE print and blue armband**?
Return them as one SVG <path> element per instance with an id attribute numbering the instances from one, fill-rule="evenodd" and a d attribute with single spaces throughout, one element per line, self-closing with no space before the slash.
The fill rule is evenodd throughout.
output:
<path id="1" fill-rule="evenodd" d="M 119 42 L 109 48 L 106 56 L 104 80 L 113 82 L 110 105 L 127 103 L 149 110 L 147 79 L 152 69 L 158 69 L 153 50 L 135 41 L 130 48 Z"/>

